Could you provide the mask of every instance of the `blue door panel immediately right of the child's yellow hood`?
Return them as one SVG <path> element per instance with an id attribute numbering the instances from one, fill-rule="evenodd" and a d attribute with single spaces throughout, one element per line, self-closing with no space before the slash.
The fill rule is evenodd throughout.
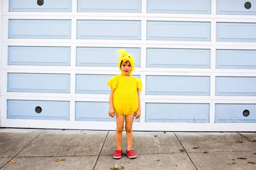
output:
<path id="1" fill-rule="evenodd" d="M 146 67 L 210 68 L 208 49 L 147 49 Z"/>

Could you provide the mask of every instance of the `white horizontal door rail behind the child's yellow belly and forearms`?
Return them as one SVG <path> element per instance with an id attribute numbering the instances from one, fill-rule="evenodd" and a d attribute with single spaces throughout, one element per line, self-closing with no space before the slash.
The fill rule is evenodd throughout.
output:
<path id="1" fill-rule="evenodd" d="M 109 94 L 63 94 L 63 93 L 19 93 L 2 92 L 6 99 L 20 100 L 61 100 L 108 102 Z M 143 95 L 140 99 L 148 103 L 255 103 L 256 96 L 161 96 Z"/>

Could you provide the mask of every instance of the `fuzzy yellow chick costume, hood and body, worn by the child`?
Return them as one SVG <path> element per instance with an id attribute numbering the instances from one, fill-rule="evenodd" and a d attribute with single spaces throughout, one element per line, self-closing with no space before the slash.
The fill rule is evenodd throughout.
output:
<path id="1" fill-rule="evenodd" d="M 137 77 L 133 77 L 132 72 L 135 67 L 133 55 L 127 53 L 125 49 L 117 50 L 119 54 L 118 67 L 122 74 L 111 77 L 107 85 L 114 90 L 113 106 L 116 114 L 130 115 L 134 114 L 138 109 L 137 89 L 142 91 L 142 81 Z M 131 64 L 131 72 L 123 73 L 121 64 L 129 61 Z M 129 76 L 123 76 L 124 74 Z"/>

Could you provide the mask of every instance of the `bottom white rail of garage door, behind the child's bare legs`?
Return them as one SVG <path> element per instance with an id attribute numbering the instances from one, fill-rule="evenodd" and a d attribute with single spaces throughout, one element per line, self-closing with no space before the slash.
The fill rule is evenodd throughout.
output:
<path id="1" fill-rule="evenodd" d="M 3 111 L 4 112 L 4 111 Z M 61 121 L 61 120 L 23 120 L 4 119 L 3 127 L 23 128 L 47 128 L 49 129 L 88 129 L 88 130 L 116 130 L 116 122 L 106 121 Z M 239 128 L 238 128 L 239 127 Z M 187 132 L 255 132 L 255 123 L 133 123 L 133 131 L 187 131 Z"/>

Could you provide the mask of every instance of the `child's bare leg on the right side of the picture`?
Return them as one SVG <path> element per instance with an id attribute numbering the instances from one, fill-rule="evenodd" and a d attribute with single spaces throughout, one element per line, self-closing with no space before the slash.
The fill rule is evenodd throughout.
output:
<path id="1" fill-rule="evenodd" d="M 127 139 L 127 151 L 132 150 L 133 144 L 133 119 L 134 115 L 125 116 L 125 131 Z"/>

